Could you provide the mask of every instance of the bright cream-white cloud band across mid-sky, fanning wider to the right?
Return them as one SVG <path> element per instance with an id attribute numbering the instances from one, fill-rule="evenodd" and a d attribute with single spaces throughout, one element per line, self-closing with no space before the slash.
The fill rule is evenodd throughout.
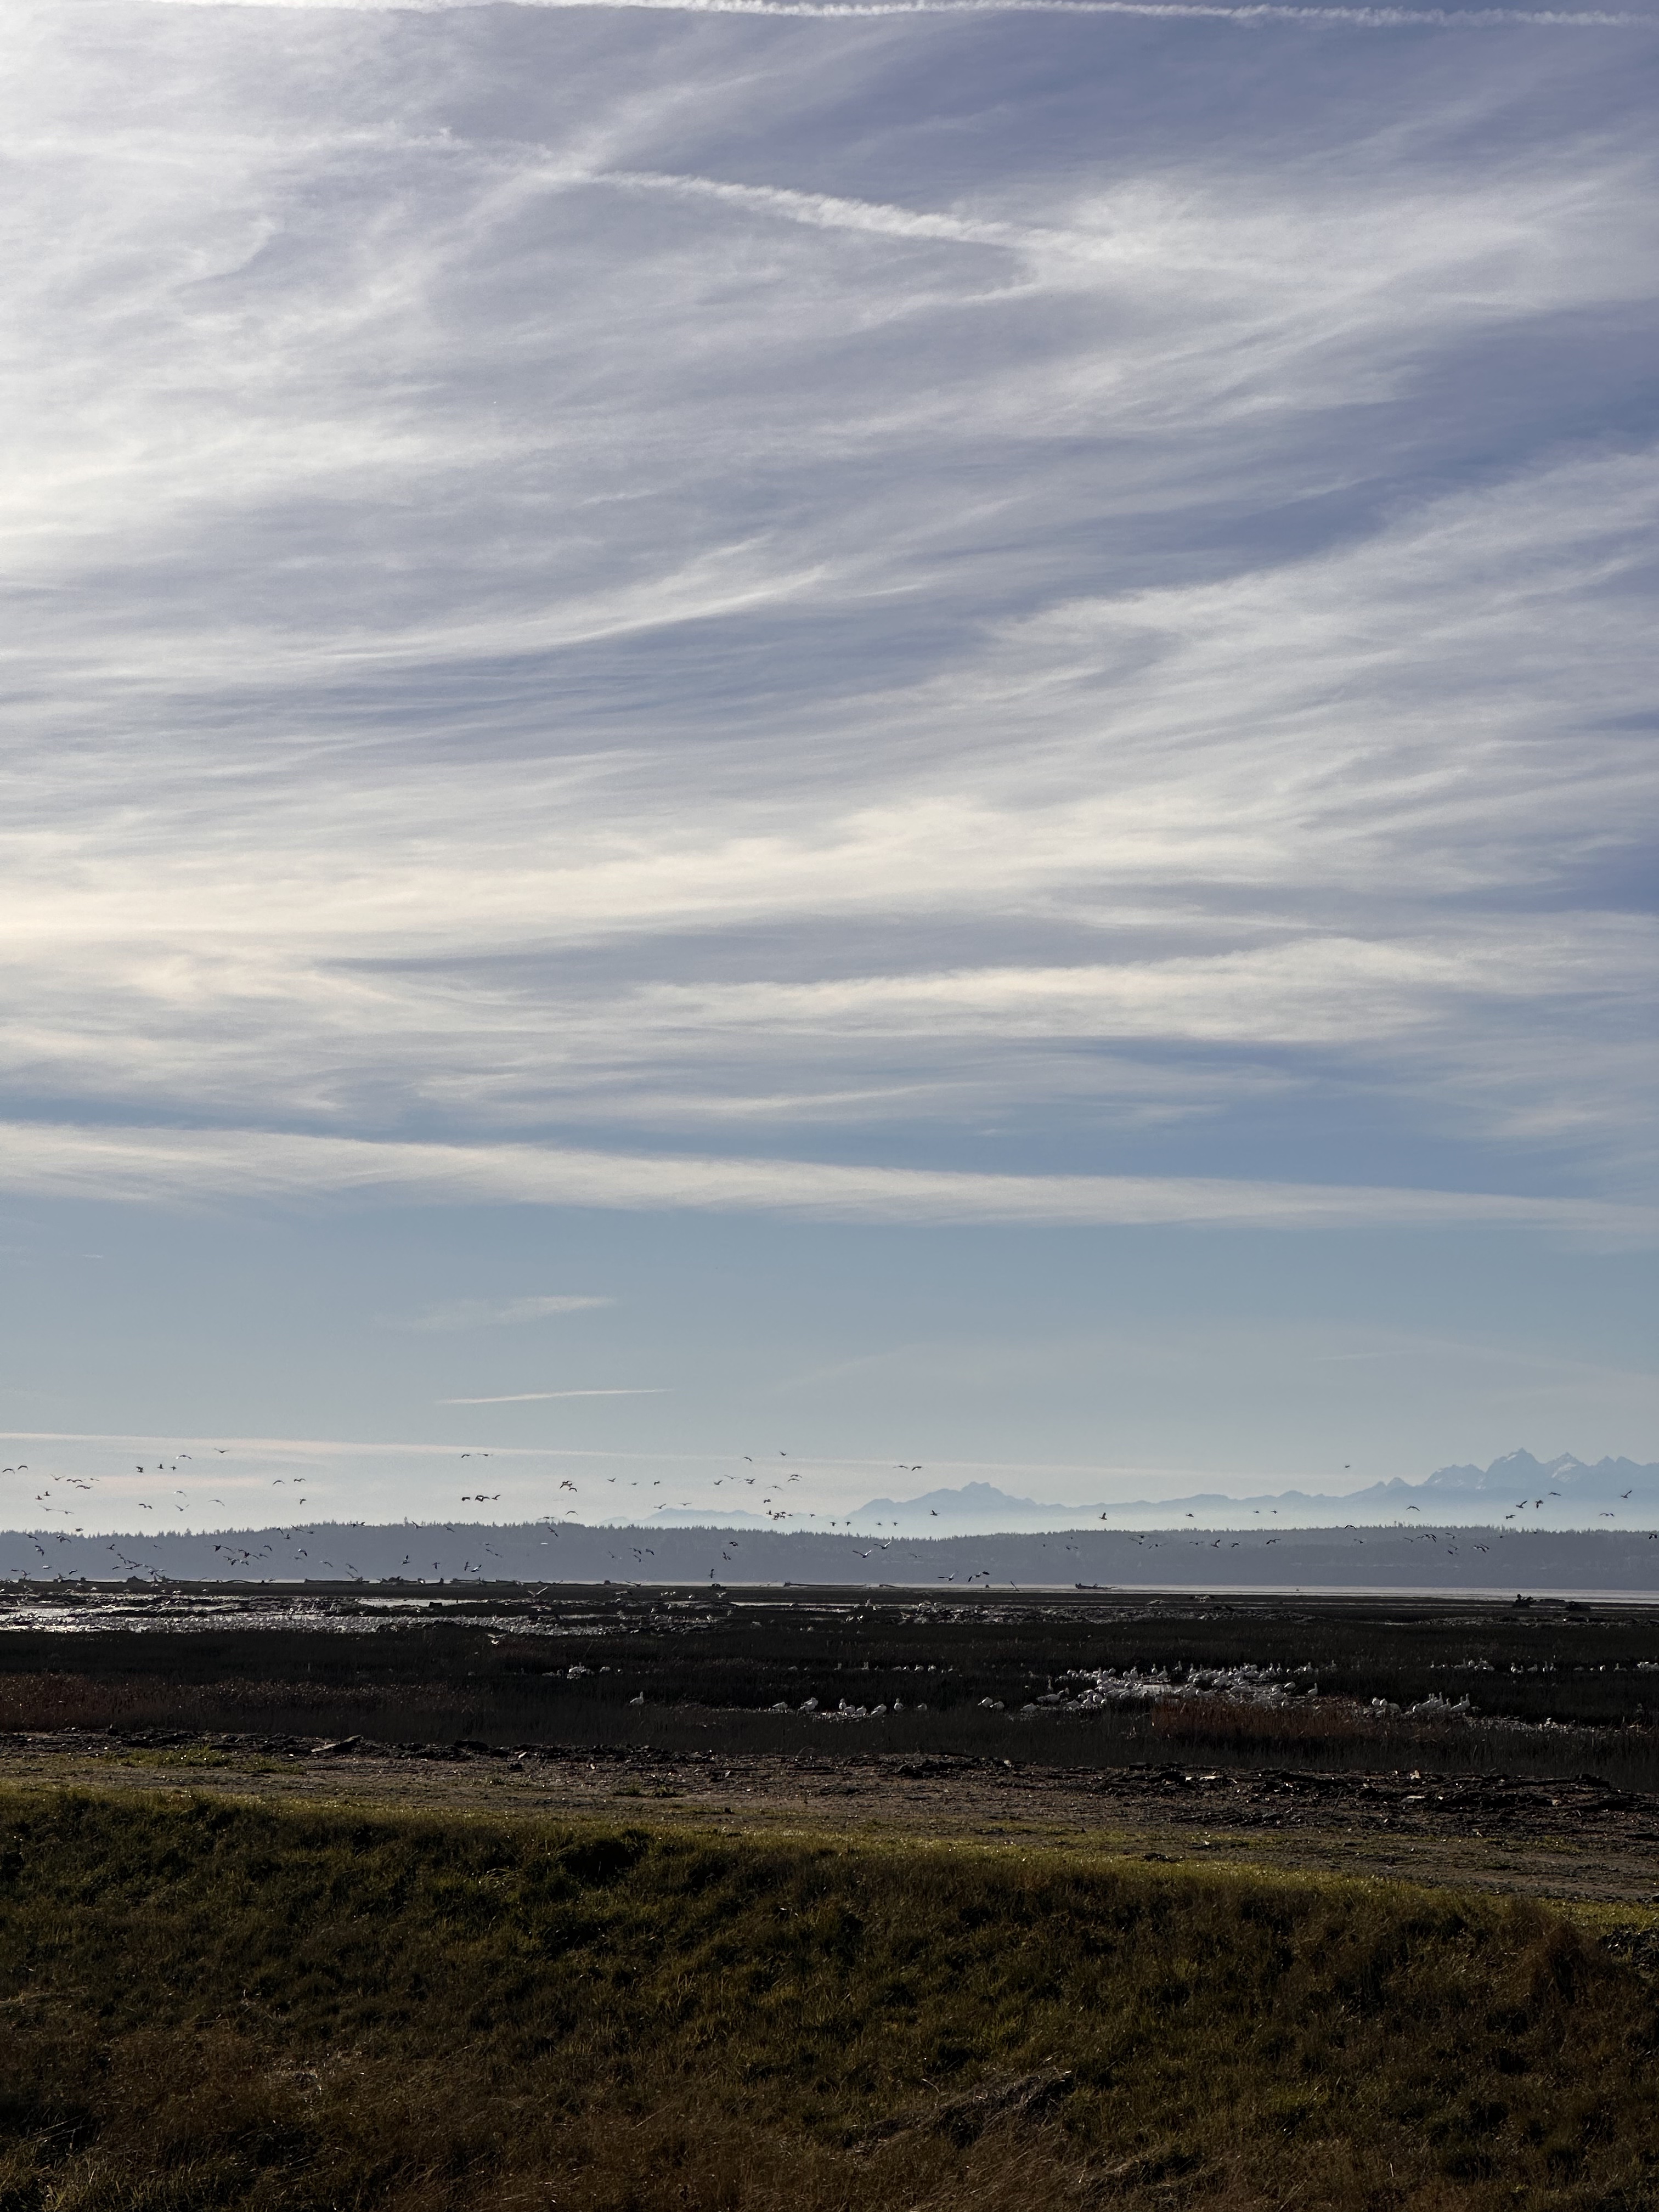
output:
<path id="1" fill-rule="evenodd" d="M 949 1124 L 1033 1082 L 1075 1095 L 1082 1071 L 1051 1055 L 1079 1042 L 1225 1048 L 1161 1082 L 1141 1062 L 1113 1106 L 1137 1119 L 1245 1099 L 1261 1053 L 1316 1051 L 1475 1137 L 1557 1133 L 1624 1172 L 1659 1073 L 1652 918 L 1542 916 L 1513 887 L 1564 863 L 1593 880 L 1648 807 L 1624 593 L 1650 520 L 1646 469 L 1597 460 L 1338 557 L 1009 622 L 971 668 L 865 708 L 900 748 L 918 723 L 971 726 L 975 701 L 1020 717 L 1020 763 L 949 779 L 918 761 L 794 805 L 710 803 L 664 770 L 670 805 L 626 768 L 608 794 L 440 759 L 380 792 L 336 774 L 327 814 L 272 794 L 259 856 L 223 823 L 175 858 L 170 810 L 142 805 L 13 838 L 0 1068 L 104 1108 L 279 1102 L 345 1128 L 389 1097 L 473 1128 L 672 1124 L 677 1097 L 752 1117 L 812 1071 L 810 1117 Z M 1467 748 L 1444 737 L 1460 714 Z M 1562 719 L 1571 750 L 1548 739 Z M 422 812 L 449 816 L 442 854 L 411 847 Z M 1064 958 L 973 960 L 993 916 Z M 872 971 L 856 947 L 878 922 Z M 734 980 L 761 925 L 796 942 Z M 710 931 L 737 953 L 675 942 Z M 1124 1077 L 1088 1084 L 1110 1104 Z"/>

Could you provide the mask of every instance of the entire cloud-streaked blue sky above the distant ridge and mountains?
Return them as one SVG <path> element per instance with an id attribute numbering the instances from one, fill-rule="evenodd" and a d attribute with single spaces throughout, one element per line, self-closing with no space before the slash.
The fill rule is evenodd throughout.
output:
<path id="1" fill-rule="evenodd" d="M 1659 1458 L 1652 0 L 4 35 L 0 1520 Z"/>

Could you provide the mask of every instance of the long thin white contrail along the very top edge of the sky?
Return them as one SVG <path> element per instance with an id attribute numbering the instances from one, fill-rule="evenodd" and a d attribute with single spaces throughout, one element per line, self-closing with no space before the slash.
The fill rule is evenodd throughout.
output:
<path id="1" fill-rule="evenodd" d="M 175 7 L 270 7 L 272 0 L 170 0 Z M 445 15 L 453 9 L 493 7 L 498 0 L 274 0 L 290 9 L 389 11 Z M 544 9 L 646 9 L 670 15 L 807 15 L 858 22 L 880 15 L 1150 15 L 1197 18 L 1241 27 L 1270 22 L 1358 24 L 1367 31 L 1429 27 L 1440 31 L 1498 31 L 1515 24 L 1571 31 L 1652 31 L 1655 15 L 1610 9 L 1509 9 L 1509 7 L 1287 7 L 1283 0 L 511 0 Z"/>

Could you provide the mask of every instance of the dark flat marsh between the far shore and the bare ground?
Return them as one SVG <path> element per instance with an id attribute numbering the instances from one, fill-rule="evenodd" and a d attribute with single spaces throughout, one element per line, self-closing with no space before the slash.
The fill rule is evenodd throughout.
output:
<path id="1" fill-rule="evenodd" d="M 168 1601 L 155 1595 L 155 1604 Z M 161 1610 L 157 1632 L 133 1632 L 97 1626 L 91 1599 L 88 1626 L 73 1635 L 18 1619 L 0 1637 L 0 1730 L 361 1734 L 710 1756 L 872 1750 L 1057 1767 L 1203 1756 L 1245 1770 L 1595 1770 L 1626 1790 L 1659 1790 L 1652 1608 L 1380 1597 L 1102 1610 L 1082 1599 L 827 1604 L 772 1593 L 728 1604 L 520 1590 L 469 1599 L 478 1615 L 469 1621 L 409 1615 L 376 1626 L 354 1610 L 358 1597 L 336 1604 L 341 1617 L 305 1613 L 290 1628 L 226 1619 L 166 1632 L 173 1615 Z M 1077 1670 L 1139 1668 L 1179 1683 L 1194 1668 L 1245 1663 L 1321 1694 L 1022 1712 L 1075 1686 Z M 1473 1712 L 1462 1719 L 1433 1705 L 1464 1697 Z M 843 1725 L 803 1712 L 807 1699 L 885 1712 Z"/>

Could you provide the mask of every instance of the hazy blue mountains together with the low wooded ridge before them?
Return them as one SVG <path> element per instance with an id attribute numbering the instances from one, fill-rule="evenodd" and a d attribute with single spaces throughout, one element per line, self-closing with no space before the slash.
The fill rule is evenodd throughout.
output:
<path id="1" fill-rule="evenodd" d="M 0 1579 L 845 1582 L 1502 1586 L 1659 1590 L 1659 1464 L 1511 1451 L 1347 1495 L 1042 1504 L 991 1482 L 805 1513 L 664 1511 L 648 1526 L 316 1522 L 155 1535 L 0 1531 Z M 301 1537 L 305 1540 L 301 1546 Z M 1655 1548 L 1648 1548 L 1655 1546 Z"/>

